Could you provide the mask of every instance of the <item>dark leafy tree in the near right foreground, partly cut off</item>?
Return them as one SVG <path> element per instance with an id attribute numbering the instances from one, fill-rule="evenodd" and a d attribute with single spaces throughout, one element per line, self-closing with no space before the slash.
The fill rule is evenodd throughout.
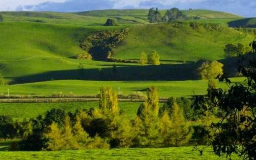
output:
<path id="1" fill-rule="evenodd" d="M 249 63 L 239 65 L 239 71 L 247 77 L 246 81 L 231 85 L 225 75 L 221 76 L 219 80 L 226 82 L 229 89 L 208 89 L 207 95 L 195 97 L 193 108 L 202 114 L 214 114 L 216 108 L 221 113 L 220 121 L 204 130 L 215 154 L 226 154 L 228 158 L 236 154 L 241 159 L 253 160 L 256 159 L 256 59 L 245 60 Z"/>

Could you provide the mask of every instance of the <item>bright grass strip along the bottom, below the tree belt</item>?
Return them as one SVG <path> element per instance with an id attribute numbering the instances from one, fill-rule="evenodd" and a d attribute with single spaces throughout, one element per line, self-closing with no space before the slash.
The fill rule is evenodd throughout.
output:
<path id="1" fill-rule="evenodd" d="M 132 159 L 132 160 L 224 160 L 225 156 L 218 157 L 211 148 L 200 156 L 199 151 L 192 151 L 193 147 L 179 148 L 133 148 L 133 149 L 95 149 L 84 151 L 54 151 L 54 152 L 0 152 L 0 159 L 8 160 L 83 160 L 83 159 Z"/>

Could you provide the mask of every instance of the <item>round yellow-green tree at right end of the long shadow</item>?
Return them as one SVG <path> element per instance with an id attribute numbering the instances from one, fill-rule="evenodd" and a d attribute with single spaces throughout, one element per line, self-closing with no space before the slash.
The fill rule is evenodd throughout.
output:
<path id="1" fill-rule="evenodd" d="M 196 73 L 201 79 L 216 79 L 218 75 L 223 75 L 223 66 L 224 65 L 218 61 L 205 61 L 196 69 Z"/>

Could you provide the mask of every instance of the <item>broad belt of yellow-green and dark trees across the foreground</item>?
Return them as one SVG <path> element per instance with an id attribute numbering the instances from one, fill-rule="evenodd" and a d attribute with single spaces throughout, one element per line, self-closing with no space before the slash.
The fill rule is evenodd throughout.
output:
<path id="1" fill-rule="evenodd" d="M 148 99 L 140 105 L 134 120 L 119 109 L 116 92 L 103 87 L 99 108 L 68 113 L 52 109 L 45 116 L 15 123 L 10 117 L 0 116 L 0 136 L 22 138 L 12 149 L 28 151 L 187 144 L 193 130 L 187 121 L 192 102 L 172 98 L 160 107 L 156 87 L 150 87 L 147 94 Z"/>

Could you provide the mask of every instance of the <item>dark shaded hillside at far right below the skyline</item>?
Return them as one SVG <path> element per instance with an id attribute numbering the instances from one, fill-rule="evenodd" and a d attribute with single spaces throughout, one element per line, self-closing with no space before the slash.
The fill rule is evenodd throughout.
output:
<path id="1" fill-rule="evenodd" d="M 238 19 L 231 22 L 228 22 L 229 27 L 246 27 L 246 28 L 255 28 L 256 27 L 256 18 L 245 18 Z"/>

